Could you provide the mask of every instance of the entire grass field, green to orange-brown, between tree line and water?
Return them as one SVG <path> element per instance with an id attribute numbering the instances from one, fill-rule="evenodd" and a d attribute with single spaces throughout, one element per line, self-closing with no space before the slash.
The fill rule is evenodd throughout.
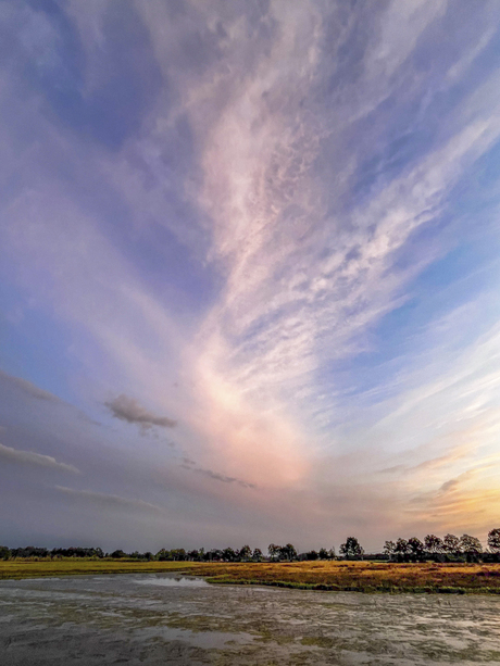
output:
<path id="1" fill-rule="evenodd" d="M 357 592 L 441 592 L 500 594 L 500 564 L 392 564 L 374 562 L 293 562 L 200 564 L 122 560 L 10 560 L 0 579 L 96 574 L 183 571 L 209 582 L 264 585 Z"/>

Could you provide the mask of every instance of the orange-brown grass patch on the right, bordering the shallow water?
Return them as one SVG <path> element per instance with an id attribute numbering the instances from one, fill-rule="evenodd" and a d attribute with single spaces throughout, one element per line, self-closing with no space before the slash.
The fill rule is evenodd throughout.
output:
<path id="1" fill-rule="evenodd" d="M 297 562 L 199 565 L 211 582 L 365 592 L 500 593 L 500 564 Z"/>

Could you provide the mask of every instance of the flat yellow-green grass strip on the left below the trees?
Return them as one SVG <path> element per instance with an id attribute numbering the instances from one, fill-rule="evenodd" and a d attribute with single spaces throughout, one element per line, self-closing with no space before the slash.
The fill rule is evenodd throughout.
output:
<path id="1" fill-rule="evenodd" d="M 123 560 L 8 560 L 0 561 L 2 578 L 95 576 L 97 574 L 162 574 L 187 570 L 192 562 L 124 562 Z"/>

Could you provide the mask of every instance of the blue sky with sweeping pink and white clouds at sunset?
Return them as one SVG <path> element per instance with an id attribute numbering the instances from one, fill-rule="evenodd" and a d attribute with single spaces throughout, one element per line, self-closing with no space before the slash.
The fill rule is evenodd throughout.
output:
<path id="1" fill-rule="evenodd" d="M 0 32 L 0 543 L 485 542 L 498 0 L 3 0 Z"/>

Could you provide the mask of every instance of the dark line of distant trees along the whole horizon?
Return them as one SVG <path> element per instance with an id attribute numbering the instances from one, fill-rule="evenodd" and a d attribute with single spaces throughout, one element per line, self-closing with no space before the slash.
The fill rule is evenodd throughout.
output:
<path id="1" fill-rule="evenodd" d="M 336 556 L 335 549 L 321 548 L 317 551 L 307 551 L 298 553 L 292 543 L 278 545 L 271 543 L 267 554 L 261 549 L 251 549 L 248 544 L 241 549 L 212 549 L 203 548 L 185 550 L 184 548 L 165 549 L 162 548 L 153 554 L 149 551 L 140 553 L 134 551 L 126 553 L 123 550 L 115 550 L 104 553 L 100 548 L 37 548 L 28 545 L 26 548 L 9 549 L 0 545 L 0 560 L 11 558 L 60 558 L 60 557 L 92 557 L 95 560 L 137 560 L 137 561 L 158 561 L 158 562 L 302 562 L 314 560 L 389 560 L 391 562 L 500 562 L 500 528 L 488 532 L 488 548 L 483 545 L 476 537 L 471 535 L 446 535 L 442 539 L 436 535 L 427 535 L 424 541 L 416 537 L 410 539 L 399 538 L 397 541 L 386 541 L 384 552 L 365 555 L 364 549 L 355 537 L 348 537 L 339 548 L 340 557 Z"/>

